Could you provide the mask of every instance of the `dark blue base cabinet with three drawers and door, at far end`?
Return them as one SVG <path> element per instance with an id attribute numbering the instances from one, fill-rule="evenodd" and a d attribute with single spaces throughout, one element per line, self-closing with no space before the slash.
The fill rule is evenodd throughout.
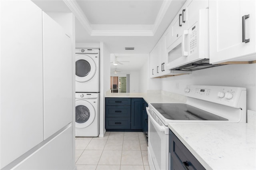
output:
<path id="1" fill-rule="evenodd" d="M 105 128 L 107 131 L 142 131 L 143 99 L 105 99 Z"/>

